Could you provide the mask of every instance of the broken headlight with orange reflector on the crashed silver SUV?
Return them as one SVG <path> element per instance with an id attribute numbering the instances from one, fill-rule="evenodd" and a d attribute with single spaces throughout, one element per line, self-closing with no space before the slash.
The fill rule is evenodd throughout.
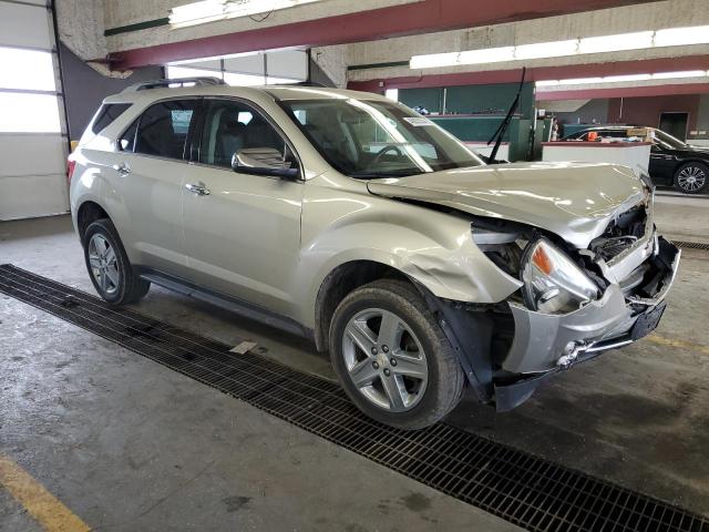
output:
<path id="1" fill-rule="evenodd" d="M 532 310 L 571 313 L 595 299 L 598 287 L 546 238 L 531 242 L 522 257 L 524 299 Z"/>

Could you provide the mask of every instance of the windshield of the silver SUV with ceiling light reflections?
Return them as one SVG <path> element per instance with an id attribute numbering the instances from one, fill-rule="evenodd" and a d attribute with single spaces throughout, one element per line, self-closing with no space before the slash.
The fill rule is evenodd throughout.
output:
<path id="1" fill-rule="evenodd" d="M 429 119 L 394 102 L 282 101 L 320 154 L 350 177 L 405 176 L 484 164 Z"/>

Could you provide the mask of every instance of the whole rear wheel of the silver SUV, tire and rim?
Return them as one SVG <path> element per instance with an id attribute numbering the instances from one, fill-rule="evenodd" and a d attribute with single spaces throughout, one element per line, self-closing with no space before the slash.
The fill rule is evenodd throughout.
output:
<path id="1" fill-rule="evenodd" d="M 99 219 L 86 227 L 83 246 L 89 276 L 103 300 L 120 306 L 147 294 L 151 284 L 136 275 L 110 219 Z"/>

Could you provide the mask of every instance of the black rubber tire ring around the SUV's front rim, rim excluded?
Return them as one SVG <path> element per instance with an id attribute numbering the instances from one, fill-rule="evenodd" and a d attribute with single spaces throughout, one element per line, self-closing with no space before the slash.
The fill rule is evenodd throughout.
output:
<path id="1" fill-rule="evenodd" d="M 421 299 L 419 305 L 412 304 L 410 300 L 415 297 Z M 446 398 L 451 390 L 443 390 L 442 387 L 460 386 L 462 388 L 461 385 L 456 383 L 456 380 L 462 383 L 462 379 L 451 378 L 444 370 L 443 366 L 445 364 L 442 365 L 443 357 L 451 356 L 450 352 L 443 351 L 445 349 L 452 351 L 448 339 L 443 336 L 433 316 L 428 311 L 421 311 L 423 301 L 421 296 L 415 293 L 415 288 L 412 288 L 411 298 L 404 298 L 400 294 L 394 294 L 386 288 L 362 287 L 347 296 L 338 306 L 330 330 L 331 362 L 349 398 L 369 417 L 382 423 L 403 429 L 423 428 L 445 416 L 452 408 L 450 399 Z M 411 327 L 425 352 L 429 370 L 427 389 L 423 398 L 411 410 L 389 412 L 377 407 L 363 397 L 351 381 L 342 354 L 342 337 L 352 316 L 367 308 L 382 308 L 403 319 Z M 458 369 L 462 371 L 460 367 Z M 458 399 L 460 399 L 460 391 L 454 390 L 454 393 L 459 396 Z M 453 401 L 453 406 L 456 402 L 458 400 Z"/>

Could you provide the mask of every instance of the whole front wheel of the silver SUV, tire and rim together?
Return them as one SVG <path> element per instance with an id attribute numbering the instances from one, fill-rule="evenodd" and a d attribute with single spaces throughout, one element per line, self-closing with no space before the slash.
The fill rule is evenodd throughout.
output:
<path id="1" fill-rule="evenodd" d="M 405 282 L 377 280 L 345 297 L 330 325 L 330 358 L 352 402 L 392 427 L 433 424 L 463 391 L 448 338 Z"/>

